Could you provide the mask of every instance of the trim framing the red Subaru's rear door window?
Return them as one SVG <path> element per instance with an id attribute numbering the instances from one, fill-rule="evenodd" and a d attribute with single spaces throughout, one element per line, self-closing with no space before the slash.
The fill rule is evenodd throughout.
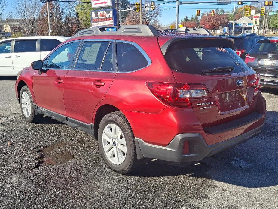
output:
<path id="1" fill-rule="evenodd" d="M 107 47 L 107 49 L 106 49 L 106 51 L 105 51 L 105 54 L 104 54 L 104 56 L 103 56 L 103 59 L 102 59 L 102 62 L 101 62 L 101 65 L 100 65 L 100 69 L 99 69 L 99 70 L 75 69 L 75 65 L 76 65 L 76 63 L 77 63 L 77 61 L 78 61 L 79 54 L 81 53 L 82 46 L 83 46 L 83 44 L 84 44 L 85 42 L 87 42 L 87 41 L 106 41 L 106 42 L 110 42 L 110 44 L 108 45 L 108 47 Z M 116 51 L 115 51 L 115 48 L 116 48 L 116 40 L 113 40 L 113 39 L 83 39 L 82 42 L 81 42 L 81 44 L 79 45 L 78 53 L 76 53 L 75 56 L 74 56 L 74 63 L 72 63 L 72 66 L 71 66 L 70 70 L 117 73 L 117 72 L 118 72 L 117 65 L 115 66 L 114 63 L 113 63 L 113 66 L 114 66 L 114 68 L 116 69 L 116 71 L 101 71 L 101 67 L 102 67 L 103 61 L 104 61 L 104 59 L 105 59 L 105 55 L 106 55 L 107 50 L 108 50 L 108 48 L 109 48 L 109 46 L 110 46 L 111 44 L 114 44 L 114 48 L 113 48 L 113 55 L 114 55 L 114 57 L 113 57 L 113 60 L 117 60 L 116 57 L 115 57 L 115 56 L 116 56 Z"/>

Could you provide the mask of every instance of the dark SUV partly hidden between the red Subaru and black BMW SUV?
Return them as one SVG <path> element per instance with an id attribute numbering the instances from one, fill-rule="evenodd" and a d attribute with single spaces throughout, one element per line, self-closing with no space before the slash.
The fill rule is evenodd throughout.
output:
<path id="1" fill-rule="evenodd" d="M 240 36 L 228 36 L 228 38 L 234 39 L 234 48 L 238 56 L 245 60 L 246 55 L 256 45 L 258 40 L 264 38 L 264 36 L 258 35 L 240 35 Z"/>

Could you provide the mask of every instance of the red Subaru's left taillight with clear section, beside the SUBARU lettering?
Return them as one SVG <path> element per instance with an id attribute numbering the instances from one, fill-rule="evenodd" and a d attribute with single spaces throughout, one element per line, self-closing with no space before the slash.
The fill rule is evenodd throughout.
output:
<path id="1" fill-rule="evenodd" d="M 176 107 L 191 107 L 191 97 L 207 96 L 208 92 L 205 86 L 192 85 L 193 88 L 190 88 L 187 83 L 147 82 L 147 86 L 154 96 L 167 105 Z"/>

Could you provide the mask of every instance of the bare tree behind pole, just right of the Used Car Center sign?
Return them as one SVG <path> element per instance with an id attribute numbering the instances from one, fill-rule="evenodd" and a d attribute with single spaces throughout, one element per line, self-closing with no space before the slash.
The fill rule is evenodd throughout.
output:
<path id="1" fill-rule="evenodd" d="M 150 5 L 150 2 L 144 2 L 143 5 Z M 159 25 L 159 17 L 161 17 L 161 9 L 159 6 L 155 7 L 155 10 L 142 8 L 142 24 L 157 27 Z M 124 24 L 140 24 L 140 12 L 130 11 Z"/>

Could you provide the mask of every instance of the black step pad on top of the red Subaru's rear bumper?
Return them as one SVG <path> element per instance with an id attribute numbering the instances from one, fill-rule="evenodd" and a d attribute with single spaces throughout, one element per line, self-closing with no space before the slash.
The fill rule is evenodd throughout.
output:
<path id="1" fill-rule="evenodd" d="M 226 131 L 230 131 L 236 128 L 239 128 L 241 126 L 245 126 L 249 123 L 253 123 L 257 120 L 260 120 L 262 117 L 264 117 L 263 114 L 258 113 L 258 112 L 253 112 L 245 117 L 242 117 L 237 120 L 233 120 L 228 123 L 223 123 L 217 126 L 212 126 L 212 127 L 207 127 L 203 128 L 205 131 L 212 133 L 212 134 L 218 134 Z"/>

